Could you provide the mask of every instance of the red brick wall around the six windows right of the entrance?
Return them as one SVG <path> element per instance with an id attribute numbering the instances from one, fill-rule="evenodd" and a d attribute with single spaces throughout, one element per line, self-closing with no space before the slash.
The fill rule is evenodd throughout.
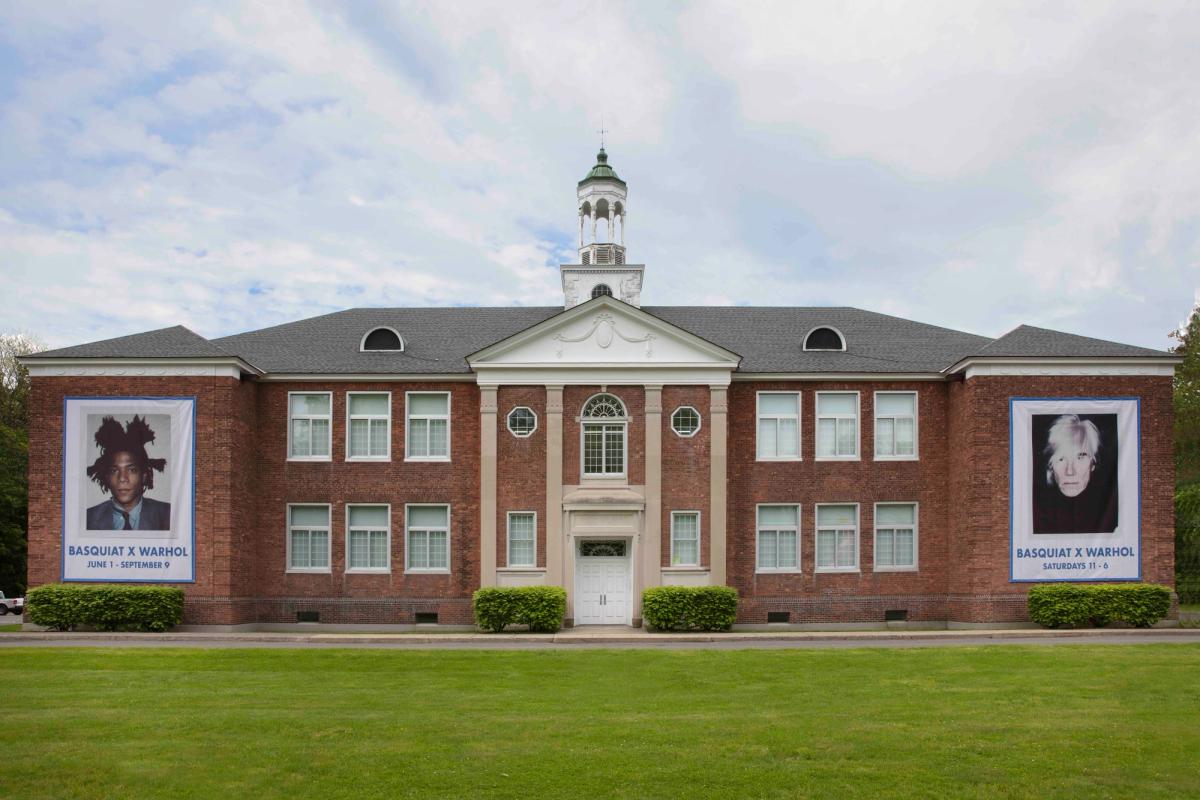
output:
<path id="1" fill-rule="evenodd" d="M 906 608 L 908 619 L 944 619 L 947 548 L 947 389 L 942 383 L 734 383 L 730 386 L 728 584 L 744 602 L 739 621 L 763 622 L 768 610 L 791 610 L 793 622 L 882 621 L 886 608 Z M 800 392 L 798 462 L 758 462 L 756 393 Z M 815 461 L 816 392 L 859 392 L 859 461 Z M 907 462 L 875 461 L 875 392 L 916 391 L 918 450 Z M 918 572 L 875 572 L 874 504 L 919 504 Z M 800 506 L 800 572 L 756 572 L 756 505 Z M 859 572 L 817 573 L 816 504 L 859 506 Z"/>

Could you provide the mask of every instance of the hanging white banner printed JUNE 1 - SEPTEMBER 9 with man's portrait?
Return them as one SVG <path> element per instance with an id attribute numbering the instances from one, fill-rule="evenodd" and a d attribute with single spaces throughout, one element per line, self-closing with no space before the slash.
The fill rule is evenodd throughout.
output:
<path id="1" fill-rule="evenodd" d="M 62 579 L 196 579 L 196 398 L 68 397 Z"/>

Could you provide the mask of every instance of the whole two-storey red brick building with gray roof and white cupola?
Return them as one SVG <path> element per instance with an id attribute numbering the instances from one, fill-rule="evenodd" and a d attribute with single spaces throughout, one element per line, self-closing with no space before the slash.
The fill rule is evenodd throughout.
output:
<path id="1" fill-rule="evenodd" d="M 1025 619 L 1031 581 L 1174 583 L 1174 356 L 854 308 L 643 307 L 626 206 L 601 150 L 563 307 L 356 308 L 25 359 L 30 585 L 179 583 L 192 624 L 467 624 L 481 585 L 552 584 L 576 625 L 637 625 L 644 588 L 728 584 L 742 624 L 953 625 Z M 127 433 L 162 398 L 186 404 L 162 536 L 190 573 L 144 560 L 158 540 L 115 483 L 78 488 L 108 452 L 94 420 Z M 85 530 L 96 498 L 106 530 Z M 131 539 L 140 560 L 116 560 Z"/>

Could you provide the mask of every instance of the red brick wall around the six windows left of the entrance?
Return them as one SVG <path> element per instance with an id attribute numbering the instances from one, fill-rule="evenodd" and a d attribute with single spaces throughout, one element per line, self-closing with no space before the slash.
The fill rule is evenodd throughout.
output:
<path id="1" fill-rule="evenodd" d="M 332 391 L 332 461 L 287 461 L 288 392 Z M 346 461 L 346 402 L 348 391 L 390 391 L 391 461 Z M 404 392 L 450 392 L 449 462 L 406 462 Z M 329 609 L 322 621 L 360 621 L 378 599 L 403 600 L 385 619 L 410 622 L 410 601 L 469 599 L 479 587 L 479 390 L 466 383 L 264 383 L 258 392 L 258 515 L 256 585 L 259 599 L 311 599 Z M 330 573 L 288 573 L 287 505 L 328 503 L 331 507 Z M 450 573 L 404 573 L 404 505 L 450 505 Z M 391 505 L 391 572 L 346 572 L 346 505 Z M 355 602 L 334 603 L 334 599 Z M 371 602 L 360 602 L 371 601 Z M 312 604 L 312 603 L 310 603 Z M 437 604 L 437 603 L 434 603 Z M 457 607 L 451 603 L 452 607 Z M 317 608 L 317 606 L 313 606 Z M 269 604 L 265 621 L 286 619 L 287 604 Z M 341 609 L 341 610 L 337 610 Z M 259 604 L 259 613 L 264 613 Z"/>

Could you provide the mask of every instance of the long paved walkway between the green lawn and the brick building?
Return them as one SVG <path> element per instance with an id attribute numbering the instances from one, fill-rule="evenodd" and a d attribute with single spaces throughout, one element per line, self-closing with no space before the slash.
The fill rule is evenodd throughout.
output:
<path id="1" fill-rule="evenodd" d="M 179 632 L 107 633 L 22 631 L 0 633 L 2 646 L 210 646 L 210 648 L 787 648 L 937 646 L 979 644 L 1200 643 L 1200 628 L 996 628 L 967 631 L 736 631 L 650 633 L 640 628 L 569 628 L 558 633 L 317 633 Z"/>

